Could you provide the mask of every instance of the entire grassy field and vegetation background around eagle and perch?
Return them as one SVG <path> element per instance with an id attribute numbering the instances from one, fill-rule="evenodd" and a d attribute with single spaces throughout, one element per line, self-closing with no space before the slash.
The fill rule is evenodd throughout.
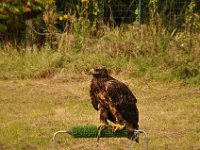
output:
<path id="1" fill-rule="evenodd" d="M 95 65 L 135 94 L 150 150 L 200 150 L 199 0 L 131 2 L 0 2 L 0 150 L 51 149 L 56 131 L 98 125 L 85 73 Z M 129 142 L 100 139 L 99 149 Z M 57 137 L 61 150 L 95 146 Z M 145 149 L 144 137 L 133 147 Z"/>

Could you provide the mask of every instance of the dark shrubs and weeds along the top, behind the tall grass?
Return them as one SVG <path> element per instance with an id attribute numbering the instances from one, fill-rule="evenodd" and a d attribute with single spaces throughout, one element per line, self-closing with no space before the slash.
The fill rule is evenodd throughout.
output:
<path id="1" fill-rule="evenodd" d="M 37 31 L 50 33 L 45 41 L 51 43 L 52 34 L 73 32 L 77 24 L 93 30 L 99 30 L 103 24 L 120 26 L 138 21 L 139 12 L 145 24 L 171 31 L 185 27 L 199 31 L 195 21 L 200 13 L 198 0 L 143 0 L 141 5 L 140 11 L 138 1 L 132 0 L 5 0 L 0 2 L 0 43 L 7 41 L 18 46 L 31 40 L 38 44 L 41 41 Z"/>

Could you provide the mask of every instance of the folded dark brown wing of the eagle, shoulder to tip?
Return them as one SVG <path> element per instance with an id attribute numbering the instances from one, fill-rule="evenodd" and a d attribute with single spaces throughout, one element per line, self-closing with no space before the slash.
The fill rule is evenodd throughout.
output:
<path id="1" fill-rule="evenodd" d="M 118 80 L 107 81 L 105 88 L 108 98 L 114 103 L 123 119 L 129 124 L 129 127 L 138 129 L 139 111 L 136 106 L 137 99 L 131 90 Z"/>

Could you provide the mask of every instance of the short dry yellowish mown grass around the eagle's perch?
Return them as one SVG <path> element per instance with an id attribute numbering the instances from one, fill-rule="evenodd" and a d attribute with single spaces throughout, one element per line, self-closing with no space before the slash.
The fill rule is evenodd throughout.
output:
<path id="1" fill-rule="evenodd" d="M 150 150 L 200 150 L 200 88 L 115 76 L 138 99 L 140 129 Z M 51 149 L 53 133 L 73 125 L 97 125 L 90 104 L 90 77 L 57 76 L 43 80 L 0 81 L 0 150 Z M 94 149 L 96 139 L 57 137 L 58 149 Z M 99 149 L 124 150 L 129 140 L 100 139 Z M 145 149 L 144 137 L 136 150 Z"/>

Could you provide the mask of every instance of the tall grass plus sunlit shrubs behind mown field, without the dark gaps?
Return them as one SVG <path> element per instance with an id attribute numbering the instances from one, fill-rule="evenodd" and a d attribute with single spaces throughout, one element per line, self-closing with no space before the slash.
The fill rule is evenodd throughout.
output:
<path id="1" fill-rule="evenodd" d="M 31 33 L 32 42 L 29 38 L 28 42 L 20 40 L 26 43 L 26 46 L 18 41 L 21 36 L 18 37 L 19 39 L 14 38 L 14 43 L 2 39 L 0 41 L 0 78 L 46 78 L 59 74 L 63 69 L 81 73 L 95 64 L 102 64 L 116 73 L 125 73 L 130 77 L 162 81 L 178 80 L 197 86 L 200 84 L 198 58 L 200 16 L 196 1 L 185 3 L 184 6 L 182 6 L 184 3 L 181 3 L 180 6 L 184 7 L 182 14 L 179 14 L 180 10 L 176 10 L 175 14 L 181 16 L 183 20 L 181 27 L 168 26 L 163 20 L 163 16 L 167 16 L 166 12 L 169 13 L 174 5 L 178 5 L 175 2 L 169 4 L 165 2 L 166 7 L 169 8 L 161 12 L 162 2 L 149 1 L 147 12 L 149 12 L 150 20 L 148 23 L 139 25 L 133 22 L 121 24 L 118 27 L 107 26 L 101 18 L 104 12 L 101 11 L 103 8 L 100 9 L 100 6 L 104 6 L 101 4 L 106 1 L 96 3 L 69 1 L 66 4 L 66 12 L 63 12 L 64 8 L 58 5 L 57 1 L 43 3 L 27 1 L 19 8 L 18 1 L 9 1 L 6 5 L 5 2 L 1 2 L 1 5 L 5 5 L 2 7 L 5 10 L 7 7 L 15 6 L 19 14 L 26 13 L 23 10 L 27 7 L 33 12 L 42 11 L 43 17 L 41 18 L 39 14 L 33 18 L 32 23 L 36 29 L 37 26 L 44 28 L 45 34 L 41 35 L 42 37 L 39 34 L 39 39 L 37 39 L 37 37 L 33 38 L 34 34 Z M 48 5 L 43 9 L 42 6 L 45 4 Z M 71 13 L 67 13 L 69 10 Z M 173 13 L 173 11 L 170 12 Z M 101 17 L 94 17 L 95 15 Z M 13 17 L 20 19 L 20 15 L 13 15 Z M 13 20 L 9 16 L 6 18 Z M 170 22 L 173 19 L 168 20 Z M 177 24 L 177 20 L 174 21 Z M 55 30 L 61 29 L 60 23 L 64 30 L 55 34 Z M 7 27 L 12 24 L 7 24 Z M 15 32 L 11 30 L 11 33 L 12 37 L 15 37 Z M 38 46 L 34 41 L 41 42 L 40 38 L 45 40 L 43 45 Z"/>

